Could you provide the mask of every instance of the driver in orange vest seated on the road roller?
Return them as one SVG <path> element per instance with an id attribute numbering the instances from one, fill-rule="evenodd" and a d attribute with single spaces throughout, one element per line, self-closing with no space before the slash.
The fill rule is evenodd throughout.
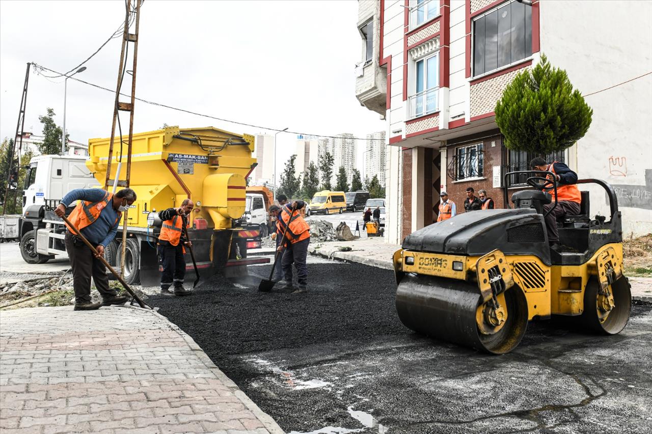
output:
<path id="1" fill-rule="evenodd" d="M 577 216 L 580 214 L 580 203 L 582 203 L 582 194 L 577 188 L 577 173 L 569 169 L 568 166 L 561 162 L 546 163 L 541 157 L 533 158 L 530 167 L 534 170 L 549 171 L 554 174 L 557 181 L 557 206 L 555 207 L 555 192 L 551 188 L 549 193 L 553 196 L 552 203 L 543 206 L 543 213 L 546 214 L 549 209 L 553 208 L 546 216 L 546 229 L 548 229 L 548 243 L 550 248 L 561 250 L 559 244 L 559 231 L 557 231 L 557 217 Z M 548 175 L 550 178 L 550 175 Z M 546 188 L 548 190 L 548 188 Z"/>

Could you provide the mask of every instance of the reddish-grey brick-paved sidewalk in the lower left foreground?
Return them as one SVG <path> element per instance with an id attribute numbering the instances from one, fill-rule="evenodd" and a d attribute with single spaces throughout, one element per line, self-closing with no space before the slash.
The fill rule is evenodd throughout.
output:
<path id="1" fill-rule="evenodd" d="M 281 434 L 201 348 L 153 311 L 0 312 L 0 431 Z"/>

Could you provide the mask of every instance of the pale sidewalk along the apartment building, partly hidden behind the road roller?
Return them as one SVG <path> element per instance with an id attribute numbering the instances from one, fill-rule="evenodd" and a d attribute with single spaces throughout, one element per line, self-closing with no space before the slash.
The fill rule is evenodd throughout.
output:
<path id="1" fill-rule="evenodd" d="M 341 252 L 340 248 L 351 248 L 349 252 Z M 372 267 L 393 270 L 392 258 L 394 252 L 400 249 L 398 244 L 384 242 L 382 237 L 362 238 L 353 241 L 329 241 L 310 244 L 308 252 L 314 255 L 357 262 Z M 632 299 L 652 303 L 652 278 L 629 278 L 632 285 Z"/>

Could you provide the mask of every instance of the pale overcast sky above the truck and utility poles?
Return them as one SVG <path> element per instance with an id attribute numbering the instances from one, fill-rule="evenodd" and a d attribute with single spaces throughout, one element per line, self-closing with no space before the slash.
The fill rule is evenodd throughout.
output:
<path id="1" fill-rule="evenodd" d="M 0 136 L 16 130 L 27 62 L 67 72 L 124 17 L 122 1 L 0 1 Z M 356 20 L 355 0 L 146 0 L 136 96 L 269 128 L 364 137 L 384 130 L 385 123 L 355 98 L 353 68 L 361 59 Z M 120 47 L 121 38 L 111 40 L 78 77 L 114 89 Z M 25 131 L 40 134 L 38 115 L 48 107 L 61 125 L 63 91 L 61 78 L 30 74 Z M 70 139 L 87 143 L 110 136 L 112 105 L 113 94 L 68 80 Z M 164 123 L 266 132 L 136 102 L 135 132 Z M 278 135 L 279 167 L 294 152 L 295 139 Z M 359 143 L 359 166 L 363 148 Z"/>

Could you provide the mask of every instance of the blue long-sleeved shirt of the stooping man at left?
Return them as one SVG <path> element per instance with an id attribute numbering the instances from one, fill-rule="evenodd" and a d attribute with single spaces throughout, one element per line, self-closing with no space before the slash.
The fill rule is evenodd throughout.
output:
<path id="1" fill-rule="evenodd" d="M 69 207 L 78 200 L 99 202 L 104 199 L 105 194 L 106 191 L 101 188 L 76 188 L 65 195 L 63 199 L 61 199 L 61 203 L 63 203 L 65 207 Z M 108 205 L 102 209 L 97 220 L 95 220 L 93 224 L 82 229 L 82 235 L 86 237 L 91 244 L 101 245 L 104 247 L 108 246 L 118 230 L 119 222 L 116 221 L 118 215 L 119 213 L 113 209 L 113 203 L 109 202 Z"/>

